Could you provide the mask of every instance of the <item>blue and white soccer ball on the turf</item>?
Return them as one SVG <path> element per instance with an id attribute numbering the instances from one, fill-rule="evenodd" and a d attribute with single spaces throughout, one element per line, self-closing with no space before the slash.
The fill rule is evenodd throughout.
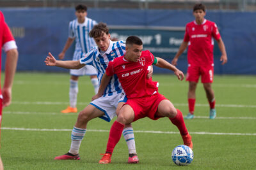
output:
<path id="1" fill-rule="evenodd" d="M 193 160 L 194 153 L 186 145 L 176 146 L 172 151 L 172 160 L 178 166 L 187 166 Z"/>

